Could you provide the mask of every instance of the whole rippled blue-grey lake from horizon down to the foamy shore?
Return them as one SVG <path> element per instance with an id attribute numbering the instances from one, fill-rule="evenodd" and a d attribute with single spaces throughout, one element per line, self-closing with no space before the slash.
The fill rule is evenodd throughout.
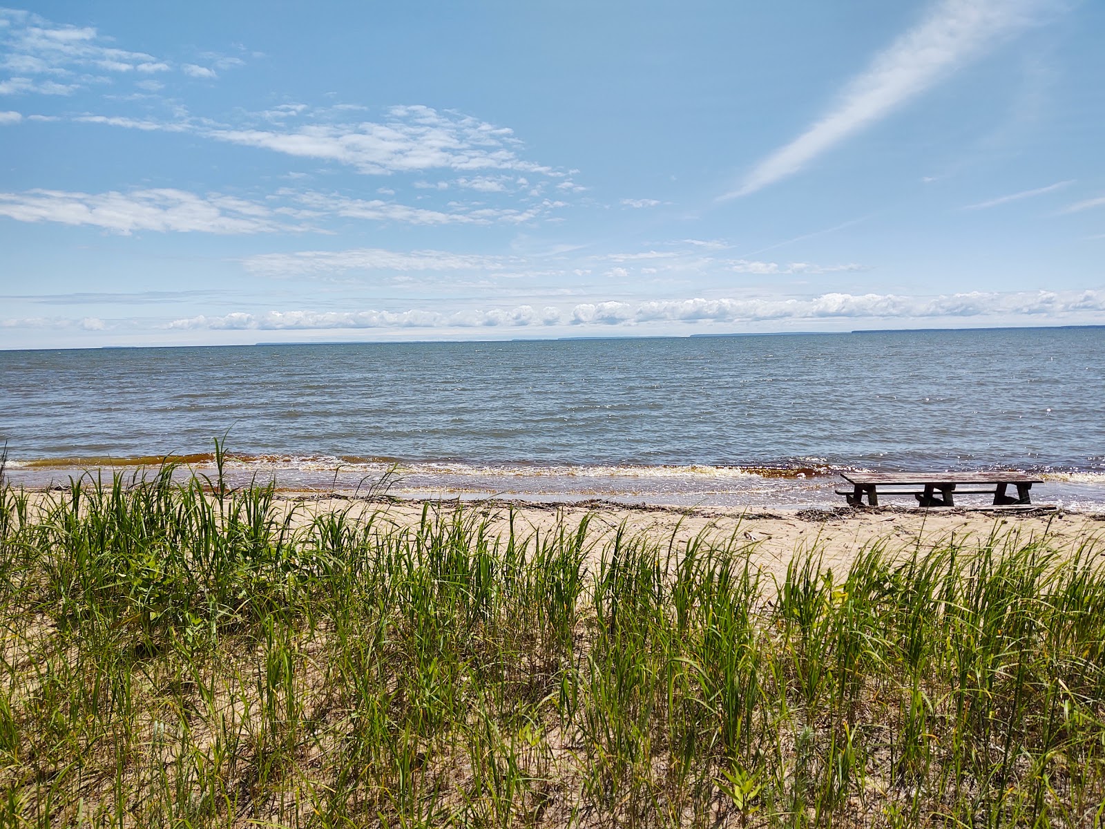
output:
<path id="1" fill-rule="evenodd" d="M 1105 328 L 0 351 L 7 474 L 182 455 L 398 494 L 829 504 L 835 473 L 1017 468 L 1105 506 Z"/>

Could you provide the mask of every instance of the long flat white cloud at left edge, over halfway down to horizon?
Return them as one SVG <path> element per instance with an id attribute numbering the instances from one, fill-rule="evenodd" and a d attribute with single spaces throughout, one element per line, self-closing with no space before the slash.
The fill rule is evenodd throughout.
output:
<path id="1" fill-rule="evenodd" d="M 219 193 L 201 197 L 168 188 L 126 193 L 0 192 L 0 216 L 23 222 L 86 224 L 125 235 L 140 230 L 228 234 L 297 229 L 276 221 L 263 204 Z"/>

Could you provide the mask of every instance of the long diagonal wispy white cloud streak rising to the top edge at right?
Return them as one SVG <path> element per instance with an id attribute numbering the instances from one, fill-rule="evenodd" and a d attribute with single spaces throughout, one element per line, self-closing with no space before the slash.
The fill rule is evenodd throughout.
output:
<path id="1" fill-rule="evenodd" d="M 722 198 L 746 196 L 793 175 L 943 81 L 1002 36 L 1030 25 L 1032 12 L 1041 4 L 1041 0 L 941 0 L 844 87 L 835 108 L 756 165 L 738 189 Z"/>

